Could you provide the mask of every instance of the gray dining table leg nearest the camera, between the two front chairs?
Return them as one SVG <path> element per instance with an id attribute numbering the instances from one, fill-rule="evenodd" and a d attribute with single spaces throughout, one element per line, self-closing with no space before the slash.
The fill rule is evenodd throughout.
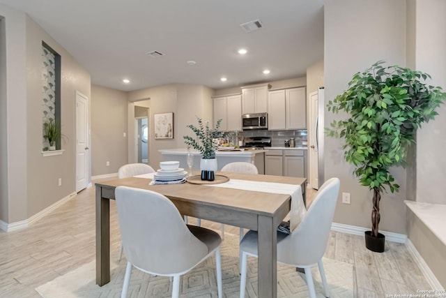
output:
<path id="1" fill-rule="evenodd" d="M 277 297 L 277 234 L 272 217 L 258 216 L 259 298 Z"/>

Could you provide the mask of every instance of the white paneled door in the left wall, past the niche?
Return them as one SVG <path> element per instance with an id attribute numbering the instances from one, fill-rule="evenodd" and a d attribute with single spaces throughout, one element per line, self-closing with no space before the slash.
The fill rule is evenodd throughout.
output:
<path id="1" fill-rule="evenodd" d="M 76 91 L 76 192 L 86 188 L 89 177 L 88 98 Z"/>

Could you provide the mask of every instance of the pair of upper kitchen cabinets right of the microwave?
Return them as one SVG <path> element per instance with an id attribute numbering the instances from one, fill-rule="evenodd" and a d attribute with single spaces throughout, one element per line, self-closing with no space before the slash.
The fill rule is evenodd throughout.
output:
<path id="1" fill-rule="evenodd" d="M 302 129 L 307 127 L 305 87 L 269 92 L 268 129 Z"/>

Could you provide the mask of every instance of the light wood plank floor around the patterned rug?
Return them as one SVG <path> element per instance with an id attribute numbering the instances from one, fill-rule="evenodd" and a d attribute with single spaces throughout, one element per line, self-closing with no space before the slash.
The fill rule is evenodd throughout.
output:
<path id="1" fill-rule="evenodd" d="M 309 190 L 309 204 L 314 196 Z M 112 258 L 120 244 L 114 202 L 111 204 Z M 190 223 L 194 219 L 190 218 Z M 220 230 L 220 223 L 201 221 Z M 237 227 L 225 232 L 238 234 Z M 34 288 L 95 258 L 95 188 L 87 188 L 29 228 L 0 231 L 0 297 L 40 297 Z M 331 232 L 325 258 L 354 265 L 355 297 L 416 294 L 429 283 L 404 244 L 386 241 L 384 253 L 364 247 L 364 237 Z"/>

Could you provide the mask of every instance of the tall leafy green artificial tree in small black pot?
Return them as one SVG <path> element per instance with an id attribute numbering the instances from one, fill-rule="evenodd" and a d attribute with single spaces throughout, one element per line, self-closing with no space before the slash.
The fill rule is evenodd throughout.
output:
<path id="1" fill-rule="evenodd" d="M 379 202 L 387 188 L 393 193 L 399 185 L 390 167 L 406 165 L 406 149 L 415 143 L 422 122 L 433 119 L 446 94 L 440 87 L 426 84 L 426 73 L 383 66 L 384 61 L 353 75 L 348 89 L 328 101 L 328 110 L 344 111 L 349 119 L 332 121 L 326 132 L 344 139 L 344 159 L 354 165 L 353 174 L 373 191 L 371 231 L 365 232 L 366 247 L 383 252 L 385 237 L 378 232 Z"/>

